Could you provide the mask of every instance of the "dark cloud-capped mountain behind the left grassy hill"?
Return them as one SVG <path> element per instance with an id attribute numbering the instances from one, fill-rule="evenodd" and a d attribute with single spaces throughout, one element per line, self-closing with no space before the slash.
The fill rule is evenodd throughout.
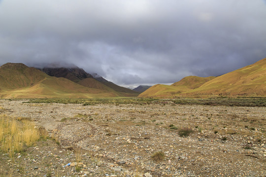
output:
<path id="1" fill-rule="evenodd" d="M 138 96 L 139 92 L 120 87 L 112 82 L 109 82 L 102 78 L 98 74 L 89 74 L 82 68 L 77 66 L 66 67 L 44 67 L 40 69 L 49 76 L 64 77 L 84 87 L 106 90 L 109 92 L 115 92 L 119 96 Z"/>

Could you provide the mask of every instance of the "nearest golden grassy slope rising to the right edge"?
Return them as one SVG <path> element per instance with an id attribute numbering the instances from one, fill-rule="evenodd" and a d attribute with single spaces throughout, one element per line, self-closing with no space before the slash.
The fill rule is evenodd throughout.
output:
<path id="1" fill-rule="evenodd" d="M 266 59 L 204 83 L 184 95 L 266 95 Z"/>

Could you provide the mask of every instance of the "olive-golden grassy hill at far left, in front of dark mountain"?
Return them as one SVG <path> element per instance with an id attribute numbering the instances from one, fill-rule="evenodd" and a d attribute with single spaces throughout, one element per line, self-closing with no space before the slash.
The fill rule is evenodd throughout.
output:
<path id="1" fill-rule="evenodd" d="M 66 78 L 56 78 L 23 63 L 0 66 L 0 98 L 100 98 L 117 97 L 106 90 L 87 88 Z"/>

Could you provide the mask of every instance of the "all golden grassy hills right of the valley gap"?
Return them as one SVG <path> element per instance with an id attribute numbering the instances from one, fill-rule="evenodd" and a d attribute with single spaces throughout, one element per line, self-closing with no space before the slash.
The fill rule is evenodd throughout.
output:
<path id="1" fill-rule="evenodd" d="M 171 86 L 155 85 L 138 97 L 209 96 L 266 96 L 266 59 L 218 77 L 189 76 Z"/>

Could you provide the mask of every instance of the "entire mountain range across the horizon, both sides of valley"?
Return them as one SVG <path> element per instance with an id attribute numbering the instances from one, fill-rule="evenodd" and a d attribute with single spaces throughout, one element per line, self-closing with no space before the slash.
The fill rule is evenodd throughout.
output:
<path id="1" fill-rule="evenodd" d="M 146 90 L 145 90 L 146 89 Z M 143 92 L 142 92 L 143 91 Z M 142 92 L 142 93 L 140 93 Z M 139 94 L 140 93 L 140 94 Z M 172 85 L 120 87 L 77 66 L 0 66 L 0 98 L 204 98 L 266 96 L 266 59 L 218 77 L 188 76 Z"/>

